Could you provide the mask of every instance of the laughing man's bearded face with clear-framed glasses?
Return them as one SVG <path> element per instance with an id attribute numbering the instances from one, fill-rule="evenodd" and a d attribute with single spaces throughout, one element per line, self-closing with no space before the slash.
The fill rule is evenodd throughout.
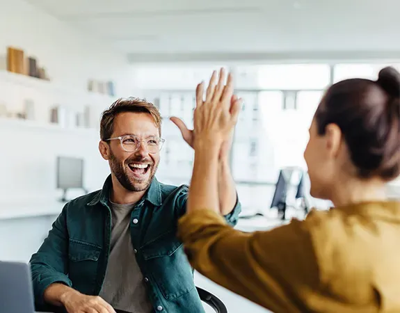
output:
<path id="1" fill-rule="evenodd" d="M 111 138 L 126 135 L 134 135 L 143 141 L 134 152 L 125 151 L 120 140 L 109 141 L 111 173 L 127 191 L 145 191 L 160 161 L 159 151 L 148 152 L 145 142 L 149 138 L 159 138 L 159 129 L 150 114 L 125 112 L 115 118 Z"/>

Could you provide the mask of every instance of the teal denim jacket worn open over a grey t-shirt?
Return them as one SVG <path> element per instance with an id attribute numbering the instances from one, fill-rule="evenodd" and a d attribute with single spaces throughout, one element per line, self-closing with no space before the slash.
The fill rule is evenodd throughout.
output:
<path id="1" fill-rule="evenodd" d="M 98 295 L 109 258 L 111 176 L 102 190 L 65 204 L 49 235 L 30 260 L 36 310 L 49 310 L 43 293 L 62 282 L 83 294 Z M 177 220 L 186 210 L 189 188 L 161 184 L 150 188 L 131 213 L 131 240 L 154 312 L 205 312 L 193 282 L 193 269 L 177 239 Z M 225 216 L 236 225 L 241 206 Z"/>

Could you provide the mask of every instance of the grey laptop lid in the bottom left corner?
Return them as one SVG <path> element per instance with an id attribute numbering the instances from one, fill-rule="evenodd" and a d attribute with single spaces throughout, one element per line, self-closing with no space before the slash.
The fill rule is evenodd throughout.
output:
<path id="1" fill-rule="evenodd" d="M 35 313 L 28 264 L 0 261 L 0 312 Z"/>

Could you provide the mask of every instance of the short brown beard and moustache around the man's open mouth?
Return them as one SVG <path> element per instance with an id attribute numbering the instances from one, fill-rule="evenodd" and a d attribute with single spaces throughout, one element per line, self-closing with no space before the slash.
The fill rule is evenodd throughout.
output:
<path id="1" fill-rule="evenodd" d="M 138 181 L 134 177 L 131 177 L 131 169 L 129 168 L 128 164 L 129 163 L 148 163 L 150 164 L 150 168 L 148 171 L 150 171 L 150 175 L 148 175 L 148 178 L 143 180 L 143 181 Z M 111 172 L 115 177 L 118 179 L 118 182 L 127 189 L 127 191 L 145 191 L 147 188 L 149 188 L 150 184 L 152 183 L 152 179 L 154 175 L 157 172 L 157 168 L 159 166 L 159 163 L 154 164 L 152 161 L 149 161 L 149 159 L 143 159 L 141 157 L 132 157 L 130 159 L 127 159 L 124 163 L 121 163 L 118 161 L 118 159 L 115 158 L 115 155 L 111 152 L 110 155 L 110 166 L 111 166 Z"/>

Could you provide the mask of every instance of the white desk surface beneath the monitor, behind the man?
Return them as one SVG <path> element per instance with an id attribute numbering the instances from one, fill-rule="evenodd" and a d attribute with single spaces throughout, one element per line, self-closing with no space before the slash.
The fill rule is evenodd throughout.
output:
<path id="1" fill-rule="evenodd" d="M 64 205 L 65 203 L 56 201 L 31 203 L 0 202 L 0 220 L 38 216 L 58 216 Z"/>

